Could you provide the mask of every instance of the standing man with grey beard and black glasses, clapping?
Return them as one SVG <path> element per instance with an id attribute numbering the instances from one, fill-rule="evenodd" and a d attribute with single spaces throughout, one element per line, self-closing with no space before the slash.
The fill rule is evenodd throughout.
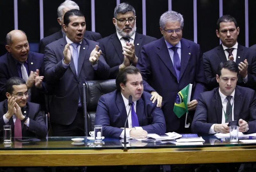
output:
<path id="1" fill-rule="evenodd" d="M 116 33 L 100 39 L 102 55 L 110 66 L 109 79 L 115 79 L 119 69 L 136 66 L 141 47 L 156 38 L 136 32 L 136 15 L 128 3 L 116 6 L 113 18 Z"/>

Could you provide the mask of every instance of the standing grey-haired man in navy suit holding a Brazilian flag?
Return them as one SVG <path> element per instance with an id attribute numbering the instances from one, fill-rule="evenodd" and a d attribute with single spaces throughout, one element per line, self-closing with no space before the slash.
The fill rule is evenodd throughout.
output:
<path id="1" fill-rule="evenodd" d="M 144 45 L 137 67 L 142 73 L 144 90 L 156 91 L 168 105 L 163 112 L 167 132 L 190 132 L 185 129 L 185 116 L 180 119 L 173 112 L 177 93 L 193 84 L 188 110 L 193 114 L 199 93 L 204 91 L 204 68 L 200 46 L 182 38 L 184 20 L 180 13 L 168 11 L 160 17 L 163 37 Z"/>

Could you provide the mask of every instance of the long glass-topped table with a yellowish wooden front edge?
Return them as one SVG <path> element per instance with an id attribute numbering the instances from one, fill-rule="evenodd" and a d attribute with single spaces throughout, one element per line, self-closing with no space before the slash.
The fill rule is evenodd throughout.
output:
<path id="1" fill-rule="evenodd" d="M 71 138 L 48 137 L 40 142 L 0 144 L 0 166 L 98 166 L 145 164 L 198 164 L 256 162 L 256 144 L 230 143 L 228 139 L 203 137 L 203 145 L 143 143 L 129 140 L 124 149 L 119 139 L 105 138 L 94 144 L 85 138 L 73 145 Z M 3 142 L 3 138 L 1 138 Z"/>

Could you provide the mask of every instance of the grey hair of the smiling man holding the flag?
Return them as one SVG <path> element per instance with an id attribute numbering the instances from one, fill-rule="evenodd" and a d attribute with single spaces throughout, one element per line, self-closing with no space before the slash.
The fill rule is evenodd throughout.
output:
<path id="1" fill-rule="evenodd" d="M 180 22 L 180 28 L 183 29 L 183 25 L 184 25 L 184 19 L 182 17 L 182 15 L 178 12 L 175 11 L 167 11 L 164 14 L 161 15 L 160 20 L 159 20 L 159 24 L 162 28 L 165 27 L 165 24 L 168 21 L 178 21 Z"/>

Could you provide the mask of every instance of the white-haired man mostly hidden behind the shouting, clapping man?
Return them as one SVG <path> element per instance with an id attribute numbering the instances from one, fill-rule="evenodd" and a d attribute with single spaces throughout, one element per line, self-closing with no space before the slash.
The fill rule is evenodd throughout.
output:
<path id="1" fill-rule="evenodd" d="M 67 12 L 71 9 L 79 10 L 79 6 L 74 1 L 70 1 L 70 0 L 64 1 L 63 3 L 60 4 L 60 6 L 58 7 L 58 11 L 57 11 L 58 12 L 57 20 L 61 26 L 61 30 L 52 35 L 46 36 L 45 38 L 43 38 L 40 41 L 40 43 L 39 43 L 39 52 L 40 53 L 44 54 L 44 49 L 45 49 L 46 45 L 48 45 L 49 43 L 52 43 L 53 41 L 59 40 L 60 38 L 63 38 L 66 35 L 64 28 L 63 28 L 63 16 L 64 16 L 65 12 Z M 84 33 L 84 37 L 89 40 L 92 40 L 92 41 L 97 41 L 102 38 L 100 33 L 87 31 L 87 30 Z"/>

